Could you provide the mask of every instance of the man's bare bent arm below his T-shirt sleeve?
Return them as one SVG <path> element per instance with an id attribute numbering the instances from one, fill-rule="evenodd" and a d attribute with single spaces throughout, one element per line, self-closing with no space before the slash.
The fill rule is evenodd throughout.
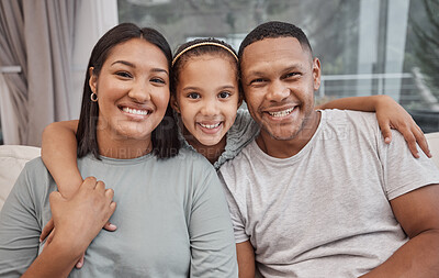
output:
<path id="1" fill-rule="evenodd" d="M 369 277 L 439 277 L 439 185 L 391 200 L 393 213 L 409 241 Z"/>

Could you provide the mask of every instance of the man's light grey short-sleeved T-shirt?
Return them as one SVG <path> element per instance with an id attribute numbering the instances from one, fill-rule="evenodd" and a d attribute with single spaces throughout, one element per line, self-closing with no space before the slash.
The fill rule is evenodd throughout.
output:
<path id="1" fill-rule="evenodd" d="M 250 241 L 264 277 L 358 277 L 408 238 L 389 200 L 439 170 L 403 136 L 385 144 L 374 113 L 322 111 L 296 155 L 279 159 L 251 142 L 219 169 L 237 243 Z"/>

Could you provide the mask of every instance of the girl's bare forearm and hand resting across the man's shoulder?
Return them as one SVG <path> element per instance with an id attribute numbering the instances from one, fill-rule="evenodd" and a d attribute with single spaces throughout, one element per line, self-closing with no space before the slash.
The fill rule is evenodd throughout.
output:
<path id="1" fill-rule="evenodd" d="M 416 158 L 419 157 L 418 149 L 416 147 L 417 143 L 423 152 L 428 157 L 431 157 L 427 140 L 424 136 L 420 127 L 416 124 L 407 111 L 405 111 L 403 107 L 401 107 L 389 96 L 379 94 L 370 97 L 342 98 L 318 105 L 316 109 L 349 109 L 364 112 L 375 112 L 376 120 L 384 136 L 385 143 L 391 143 L 391 129 L 394 129 L 403 134 L 413 156 Z"/>

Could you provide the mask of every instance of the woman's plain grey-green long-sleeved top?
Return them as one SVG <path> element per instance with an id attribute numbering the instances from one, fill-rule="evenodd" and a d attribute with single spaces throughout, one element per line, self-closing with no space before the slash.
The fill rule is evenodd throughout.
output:
<path id="1" fill-rule="evenodd" d="M 216 171 L 200 155 L 92 156 L 82 177 L 114 189 L 115 232 L 101 231 L 70 277 L 237 277 L 235 242 Z M 0 277 L 19 277 L 38 253 L 56 185 L 41 158 L 26 164 L 0 213 Z M 74 220 L 72 220 L 74 221 Z"/>

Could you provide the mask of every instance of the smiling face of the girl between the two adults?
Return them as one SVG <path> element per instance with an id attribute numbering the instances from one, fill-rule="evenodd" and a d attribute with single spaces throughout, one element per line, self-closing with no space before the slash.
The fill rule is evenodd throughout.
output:
<path id="1" fill-rule="evenodd" d="M 176 88 L 171 104 L 193 136 L 188 142 L 205 146 L 225 142 L 240 104 L 236 63 L 217 54 L 191 57 L 180 68 Z"/>

